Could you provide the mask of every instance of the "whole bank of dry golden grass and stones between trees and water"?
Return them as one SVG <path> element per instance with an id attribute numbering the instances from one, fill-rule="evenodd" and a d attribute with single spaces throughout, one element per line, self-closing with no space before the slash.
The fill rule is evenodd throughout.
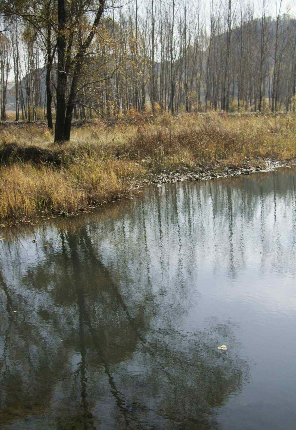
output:
<path id="1" fill-rule="evenodd" d="M 0 124 L 0 226 L 77 214 L 151 182 L 248 174 L 296 160 L 295 114 L 131 114 L 73 125 L 71 141 L 57 146 L 42 122 Z"/>

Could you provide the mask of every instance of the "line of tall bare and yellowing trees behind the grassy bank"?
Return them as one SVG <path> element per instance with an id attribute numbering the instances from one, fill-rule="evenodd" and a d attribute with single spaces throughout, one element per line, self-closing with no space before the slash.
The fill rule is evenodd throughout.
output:
<path id="1" fill-rule="evenodd" d="M 1 120 L 294 108 L 296 19 L 282 0 L 0 0 Z M 273 16 L 271 10 L 275 11 Z M 43 89 L 43 90 L 42 90 Z"/>

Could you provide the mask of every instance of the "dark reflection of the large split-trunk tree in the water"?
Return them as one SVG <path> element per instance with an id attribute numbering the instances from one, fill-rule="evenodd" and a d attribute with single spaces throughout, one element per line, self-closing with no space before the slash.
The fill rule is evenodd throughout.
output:
<path id="1" fill-rule="evenodd" d="M 86 227 L 59 243 L 1 278 L 2 428 L 32 416 L 42 428 L 216 428 L 212 410 L 242 387 L 246 363 L 205 333 L 151 330 L 151 292 L 133 306 Z"/>

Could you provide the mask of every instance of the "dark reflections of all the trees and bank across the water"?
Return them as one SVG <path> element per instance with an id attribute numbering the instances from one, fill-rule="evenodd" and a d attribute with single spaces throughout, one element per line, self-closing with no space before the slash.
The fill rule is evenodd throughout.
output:
<path id="1" fill-rule="evenodd" d="M 99 215 L 3 231 L 0 428 L 221 428 L 216 412 L 249 365 L 231 316 L 195 321 L 199 286 L 224 271 L 234 282 L 253 224 L 261 273 L 281 258 L 294 273 L 294 178 L 150 188 Z"/>

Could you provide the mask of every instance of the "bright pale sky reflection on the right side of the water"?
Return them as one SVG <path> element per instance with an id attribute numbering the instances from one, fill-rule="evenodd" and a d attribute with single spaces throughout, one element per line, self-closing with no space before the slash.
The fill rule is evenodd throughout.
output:
<path id="1" fill-rule="evenodd" d="M 268 184 L 264 183 L 264 175 L 259 175 L 261 178 L 262 182 L 259 180 L 258 183 L 251 177 L 181 186 L 175 202 L 181 246 L 176 225 L 166 228 L 170 214 L 165 213 L 165 187 L 156 191 L 160 195 L 163 231 L 159 230 L 157 211 L 151 211 L 153 216 L 150 207 L 146 206 L 145 226 L 151 272 L 155 274 L 154 277 L 150 274 L 151 283 L 155 289 L 166 287 L 163 307 L 169 309 L 163 312 L 171 316 L 170 323 L 188 332 L 201 328 L 209 315 L 216 316 L 219 321 L 230 318 L 238 322 L 241 352 L 245 351 L 244 354 L 256 365 L 252 383 L 240 397 L 241 403 L 237 399 L 230 401 L 228 408 L 232 417 L 238 419 L 235 412 L 243 414 L 242 404 L 245 402 L 262 415 L 263 423 L 259 428 L 278 428 L 275 411 L 277 416 L 285 412 L 290 417 L 288 422 L 293 421 L 294 415 L 290 402 L 294 381 L 290 375 L 293 375 L 291 357 L 296 352 L 295 184 L 290 175 L 288 179 L 284 179 L 284 175 L 281 181 L 286 181 L 287 189 L 282 190 L 272 181 L 272 174 L 269 174 Z M 191 213 L 188 213 L 187 198 L 192 206 Z M 156 198 L 153 203 L 158 203 Z M 130 230 L 127 228 L 127 231 Z M 132 230 L 127 239 L 129 246 L 135 248 L 134 253 L 140 248 L 135 240 L 138 234 Z M 161 252 L 160 238 L 164 244 Z M 102 250 L 105 245 L 101 243 Z M 108 264 L 107 259 L 105 261 Z M 135 261 L 128 264 L 129 270 L 140 278 Z M 163 267 L 165 276 L 160 280 Z M 180 272 L 183 272 L 185 282 L 191 284 L 187 298 L 180 297 L 181 290 L 175 282 L 182 278 Z M 161 305 L 163 297 L 159 299 Z M 182 315 L 181 326 L 175 318 L 178 312 L 174 312 L 180 302 L 187 309 Z M 160 325 L 161 319 L 159 316 L 154 320 L 155 327 Z M 286 375 L 283 375 L 283 369 L 289 369 Z M 287 401 L 283 402 L 283 398 Z M 262 399 L 265 403 L 260 409 L 256 406 Z M 248 414 L 250 408 L 245 408 Z M 267 419 L 270 415 L 272 424 Z M 227 428 L 236 428 L 237 421 L 230 419 L 229 413 L 223 412 L 222 418 L 229 426 Z M 269 424 L 264 427 L 264 423 Z M 257 428 L 258 422 L 250 425 Z M 289 426 L 287 419 L 283 425 Z M 242 424 L 240 428 L 244 428 Z"/>

